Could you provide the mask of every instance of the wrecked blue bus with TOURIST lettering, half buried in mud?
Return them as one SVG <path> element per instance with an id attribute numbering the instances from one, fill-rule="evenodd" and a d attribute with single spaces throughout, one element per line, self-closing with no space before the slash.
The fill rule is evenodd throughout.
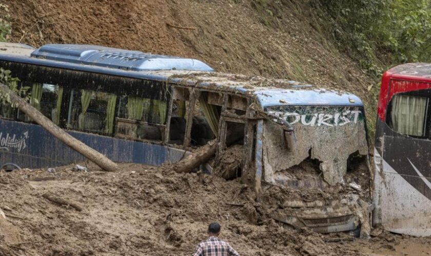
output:
<path id="1" fill-rule="evenodd" d="M 29 88 L 29 102 L 113 161 L 174 163 L 191 147 L 215 140 L 217 153 L 205 170 L 243 179 L 262 194 L 269 186 L 283 188 L 282 198 L 274 201 L 274 219 L 319 232 L 367 225 L 366 122 L 355 95 L 215 73 L 199 60 L 139 51 L 89 45 L 0 48 L 0 67 Z M 1 102 L 4 168 L 82 160 Z"/>

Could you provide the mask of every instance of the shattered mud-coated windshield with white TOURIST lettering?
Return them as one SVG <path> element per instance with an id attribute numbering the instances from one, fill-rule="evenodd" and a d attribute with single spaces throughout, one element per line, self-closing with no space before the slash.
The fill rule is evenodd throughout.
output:
<path id="1" fill-rule="evenodd" d="M 320 162 L 325 181 L 343 183 L 351 154 L 368 153 L 365 122 L 359 107 L 273 106 L 265 109 L 272 121 L 264 125 L 265 180 L 274 182 L 281 170 L 307 158 Z M 281 123 L 293 128 L 294 150 L 287 150 Z"/>

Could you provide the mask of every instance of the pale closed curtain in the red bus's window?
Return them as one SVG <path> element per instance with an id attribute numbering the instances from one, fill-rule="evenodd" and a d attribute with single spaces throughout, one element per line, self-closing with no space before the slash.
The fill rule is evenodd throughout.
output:
<path id="1" fill-rule="evenodd" d="M 424 136 L 427 105 L 426 97 L 395 95 L 390 113 L 393 129 L 405 135 Z"/>

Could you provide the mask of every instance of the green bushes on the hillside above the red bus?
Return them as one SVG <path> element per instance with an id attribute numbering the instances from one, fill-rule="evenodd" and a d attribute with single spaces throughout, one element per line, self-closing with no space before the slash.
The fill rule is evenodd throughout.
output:
<path id="1" fill-rule="evenodd" d="M 428 0 L 315 0 L 321 26 L 368 74 L 403 62 L 431 62 Z"/>

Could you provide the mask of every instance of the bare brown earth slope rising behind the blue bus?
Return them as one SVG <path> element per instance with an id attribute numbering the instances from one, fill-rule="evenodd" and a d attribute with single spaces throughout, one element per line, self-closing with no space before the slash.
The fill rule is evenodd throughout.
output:
<path id="1" fill-rule="evenodd" d="M 0 2 L 9 5 L 10 41 L 35 47 L 95 44 L 194 57 L 217 71 L 307 81 L 375 101 L 367 93 L 373 81 L 323 36 L 325 28 L 302 1 Z"/>

